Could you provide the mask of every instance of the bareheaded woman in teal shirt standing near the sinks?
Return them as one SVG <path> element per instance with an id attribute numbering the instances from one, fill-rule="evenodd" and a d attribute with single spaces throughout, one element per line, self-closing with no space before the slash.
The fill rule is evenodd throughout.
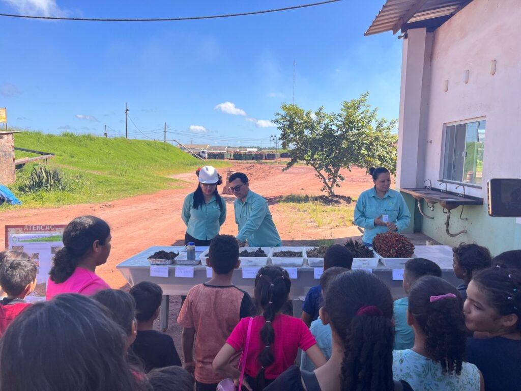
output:
<path id="1" fill-rule="evenodd" d="M 355 206 L 355 224 L 365 229 L 364 245 L 373 246 L 376 234 L 405 229 L 411 213 L 399 191 L 390 189 L 391 174 L 387 168 L 369 169 L 375 186 L 358 197 Z"/>

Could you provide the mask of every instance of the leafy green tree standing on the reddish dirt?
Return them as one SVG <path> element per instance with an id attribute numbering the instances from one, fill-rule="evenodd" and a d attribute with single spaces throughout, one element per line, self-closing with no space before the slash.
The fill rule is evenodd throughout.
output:
<path id="1" fill-rule="evenodd" d="M 391 131 L 397 121 L 378 118 L 368 96 L 342 102 L 340 113 L 326 113 L 324 107 L 305 112 L 295 104 L 282 104 L 273 122 L 281 132 L 282 148 L 290 150 L 284 170 L 297 162 L 312 166 L 324 185 L 321 191 L 330 196 L 344 180 L 341 168 L 382 166 L 395 174 L 398 136 Z"/>

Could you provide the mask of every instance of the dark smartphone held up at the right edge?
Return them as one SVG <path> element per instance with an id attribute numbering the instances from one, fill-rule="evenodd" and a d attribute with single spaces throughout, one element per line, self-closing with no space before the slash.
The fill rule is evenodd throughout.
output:
<path id="1" fill-rule="evenodd" d="M 490 179 L 487 193 L 490 216 L 521 217 L 521 179 Z"/>

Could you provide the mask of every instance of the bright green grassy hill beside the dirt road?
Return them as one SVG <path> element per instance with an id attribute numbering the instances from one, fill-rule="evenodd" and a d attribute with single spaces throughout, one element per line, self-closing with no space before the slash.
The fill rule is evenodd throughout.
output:
<path id="1" fill-rule="evenodd" d="M 9 188 L 26 207 L 103 202 L 153 193 L 179 185 L 179 181 L 169 177 L 173 174 L 205 164 L 229 166 L 223 161 L 203 163 L 169 143 L 152 140 L 23 131 L 15 134 L 15 147 L 55 154 L 48 160 L 48 167 L 57 168 L 66 182 L 66 190 L 24 192 L 24 182 L 39 163 L 18 169 L 16 184 Z M 17 159 L 34 156 L 38 155 L 15 152 Z"/>

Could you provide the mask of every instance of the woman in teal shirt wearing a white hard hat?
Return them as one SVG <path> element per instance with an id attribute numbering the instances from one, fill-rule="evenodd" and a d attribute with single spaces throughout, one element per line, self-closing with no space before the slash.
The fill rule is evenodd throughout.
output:
<path id="1" fill-rule="evenodd" d="M 209 246 L 210 240 L 219 234 L 219 229 L 226 220 L 226 202 L 217 191 L 222 178 L 212 166 L 204 166 L 196 174 L 199 185 L 184 199 L 181 213 L 181 218 L 187 225 L 184 245 L 194 242 L 195 246 Z"/>

